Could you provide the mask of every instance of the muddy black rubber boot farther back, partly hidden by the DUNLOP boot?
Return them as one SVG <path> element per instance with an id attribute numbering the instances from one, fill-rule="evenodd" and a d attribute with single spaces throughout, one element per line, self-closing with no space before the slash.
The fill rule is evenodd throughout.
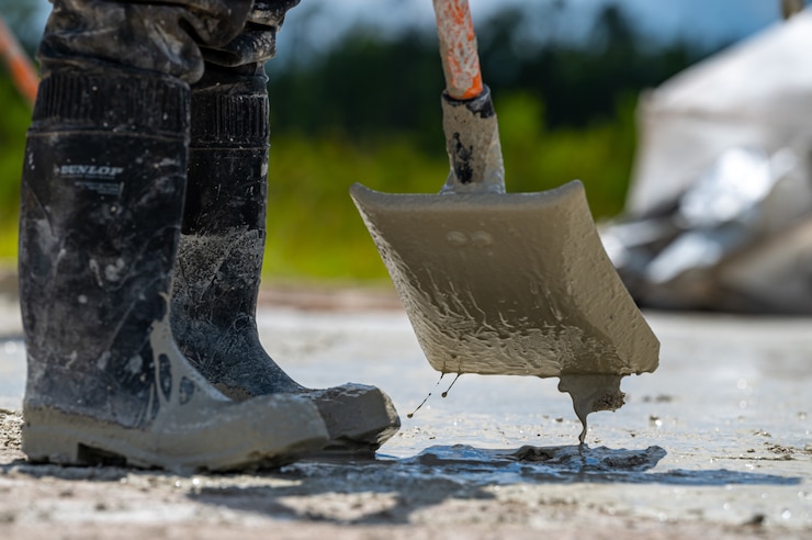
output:
<path id="1" fill-rule="evenodd" d="M 305 389 L 259 341 L 257 295 L 266 241 L 268 92 L 261 65 L 206 65 L 193 87 L 189 190 L 172 292 L 183 353 L 229 397 L 296 393 L 324 417 L 334 450 L 374 451 L 399 427 L 374 386 Z"/>

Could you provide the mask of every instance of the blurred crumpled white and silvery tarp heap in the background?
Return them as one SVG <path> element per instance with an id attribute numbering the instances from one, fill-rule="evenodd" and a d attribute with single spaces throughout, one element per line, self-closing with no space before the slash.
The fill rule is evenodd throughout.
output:
<path id="1" fill-rule="evenodd" d="M 812 314 L 812 9 L 647 92 L 625 214 L 643 306 Z"/>

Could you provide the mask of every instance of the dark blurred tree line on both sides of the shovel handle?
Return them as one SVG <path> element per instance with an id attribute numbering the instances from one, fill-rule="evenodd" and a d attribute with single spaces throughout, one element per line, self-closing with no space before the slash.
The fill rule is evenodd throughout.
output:
<path id="1" fill-rule="evenodd" d="M 654 46 L 613 4 L 604 8 L 586 41 L 548 38 L 537 21 L 554 26 L 564 16 L 561 5 L 544 2 L 541 15 L 512 7 L 478 25 L 483 71 L 494 94 L 538 95 L 553 127 L 609 120 L 619 100 L 710 53 L 686 42 Z M 337 131 L 358 140 L 408 132 L 422 147 L 436 144 L 442 72 L 432 32 L 411 29 L 385 37 L 354 27 L 311 61 L 279 71 L 273 63 L 269 67 L 278 127 L 311 135 Z"/>

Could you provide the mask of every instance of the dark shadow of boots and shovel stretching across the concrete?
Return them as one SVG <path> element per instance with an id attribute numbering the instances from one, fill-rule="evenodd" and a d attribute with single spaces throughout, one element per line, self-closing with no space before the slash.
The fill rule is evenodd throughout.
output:
<path id="1" fill-rule="evenodd" d="M 319 458 L 246 474 L 207 474 L 202 482 L 181 482 L 195 503 L 277 519 L 304 519 L 341 525 L 410 522 L 424 508 L 449 499 L 494 499 L 497 486 L 518 484 L 665 484 L 695 486 L 794 485 L 801 479 L 724 469 L 657 471 L 667 452 L 607 447 L 521 447 L 490 450 L 471 446 L 436 446 L 404 459 Z M 117 484 L 142 476 L 146 484 L 177 485 L 179 476 L 126 466 L 60 466 L 24 460 L 0 463 L 0 475 Z M 198 477 L 200 475 L 196 475 Z M 196 486 L 196 487 L 192 487 Z M 370 504 L 379 497 L 384 503 Z M 350 499 L 349 503 L 347 499 Z M 352 500 L 357 499 L 357 503 Z M 358 505 L 352 516 L 352 505 Z M 349 510 L 347 507 L 349 505 Z M 334 511 L 336 507 L 342 511 Z M 349 515 L 348 515 L 349 511 Z"/>

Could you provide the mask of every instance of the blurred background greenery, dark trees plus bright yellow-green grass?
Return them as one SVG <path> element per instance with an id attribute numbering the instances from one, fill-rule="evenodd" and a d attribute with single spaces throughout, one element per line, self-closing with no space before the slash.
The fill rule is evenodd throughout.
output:
<path id="1" fill-rule="evenodd" d="M 295 14 L 283 32 L 301 34 L 301 43 L 307 26 L 296 26 Z M 685 43 L 653 46 L 612 7 L 584 43 L 528 42 L 516 31 L 525 18 L 501 12 L 480 33 L 508 191 L 542 191 L 577 178 L 597 218 L 616 215 L 634 154 L 638 94 L 709 50 Z M 356 27 L 328 50 L 270 63 L 269 75 L 266 278 L 385 279 L 348 190 L 361 182 L 392 193 L 432 193 L 444 182 L 436 36 L 408 29 L 384 37 Z M 4 71 L 0 102 L 0 260 L 13 263 L 31 110 Z"/>

